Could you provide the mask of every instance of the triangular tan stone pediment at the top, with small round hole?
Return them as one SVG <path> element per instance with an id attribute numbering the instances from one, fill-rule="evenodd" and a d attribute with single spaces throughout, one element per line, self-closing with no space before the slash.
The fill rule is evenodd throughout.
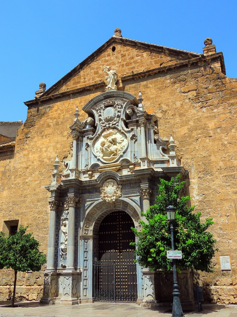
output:
<path id="1" fill-rule="evenodd" d="M 110 66 L 118 72 L 119 88 L 122 86 L 123 76 L 173 65 L 199 56 L 198 53 L 112 36 L 40 97 L 98 83 L 103 85 L 106 76 L 103 71 L 105 66 Z"/>

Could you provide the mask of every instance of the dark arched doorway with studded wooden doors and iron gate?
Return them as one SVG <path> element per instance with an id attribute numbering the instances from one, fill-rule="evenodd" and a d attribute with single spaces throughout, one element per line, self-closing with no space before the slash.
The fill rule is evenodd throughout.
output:
<path id="1" fill-rule="evenodd" d="M 137 300 L 137 271 L 132 218 L 125 211 L 114 211 L 100 223 L 98 258 L 94 260 L 94 300 Z"/>

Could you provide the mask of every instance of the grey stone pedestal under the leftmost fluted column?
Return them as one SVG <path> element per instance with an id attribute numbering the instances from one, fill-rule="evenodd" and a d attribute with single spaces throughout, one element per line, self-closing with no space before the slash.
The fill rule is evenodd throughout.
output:
<path id="1" fill-rule="evenodd" d="M 58 297 L 58 273 L 55 271 L 46 271 L 44 273 L 43 297 L 40 303 L 54 304 Z"/>

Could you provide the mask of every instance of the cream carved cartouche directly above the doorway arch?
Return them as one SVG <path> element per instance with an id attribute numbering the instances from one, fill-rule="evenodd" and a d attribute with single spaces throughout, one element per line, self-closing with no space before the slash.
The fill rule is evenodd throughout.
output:
<path id="1" fill-rule="evenodd" d="M 107 203 L 112 204 L 116 199 L 122 196 L 122 186 L 114 179 L 107 179 L 100 187 L 100 197 Z"/>

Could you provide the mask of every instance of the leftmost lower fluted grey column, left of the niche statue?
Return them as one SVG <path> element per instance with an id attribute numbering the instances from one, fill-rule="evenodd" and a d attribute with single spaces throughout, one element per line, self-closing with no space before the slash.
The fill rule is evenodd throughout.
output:
<path id="1" fill-rule="evenodd" d="M 49 241 L 48 241 L 48 257 L 47 257 L 47 270 L 55 270 L 54 268 L 54 253 L 55 253 L 55 224 L 56 224 L 56 208 L 59 203 L 50 201 L 50 221 L 49 221 Z"/>

